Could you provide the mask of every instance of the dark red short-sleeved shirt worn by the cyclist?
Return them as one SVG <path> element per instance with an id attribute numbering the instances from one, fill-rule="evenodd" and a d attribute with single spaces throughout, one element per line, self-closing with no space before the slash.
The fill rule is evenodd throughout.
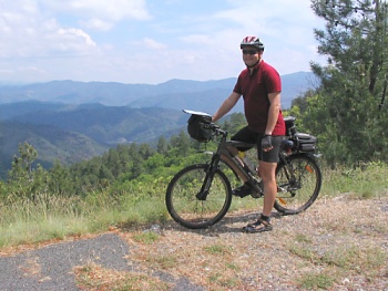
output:
<path id="1" fill-rule="evenodd" d="M 255 133 L 264 134 L 270 105 L 268 94 L 282 92 L 282 81 L 278 72 L 262 61 L 255 65 L 252 75 L 248 69 L 241 72 L 233 91 L 243 95 L 248 128 Z M 285 134 L 286 125 L 280 111 L 273 135 Z"/>

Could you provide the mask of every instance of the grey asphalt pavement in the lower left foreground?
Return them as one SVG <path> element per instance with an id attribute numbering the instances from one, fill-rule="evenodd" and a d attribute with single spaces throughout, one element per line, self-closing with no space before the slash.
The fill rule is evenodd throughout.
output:
<path id="1" fill-rule="evenodd" d="M 92 239 L 60 242 L 37 250 L 28 250 L 11 257 L 0 258 L 1 291 L 72 291 L 75 284 L 73 267 L 95 262 L 106 269 L 135 271 L 129 264 L 129 245 L 115 233 L 105 233 Z M 169 273 L 155 271 L 154 277 L 173 283 L 174 290 L 200 291 L 184 278 L 175 279 Z"/>

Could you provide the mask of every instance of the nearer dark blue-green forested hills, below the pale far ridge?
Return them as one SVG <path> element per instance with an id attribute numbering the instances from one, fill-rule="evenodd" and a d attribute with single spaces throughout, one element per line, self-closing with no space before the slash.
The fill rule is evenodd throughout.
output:
<path id="1" fill-rule="evenodd" d="M 42 102 L 0 105 L 0 177 L 11 168 L 18 145 L 25 142 L 38 150 L 37 162 L 49 168 L 55 160 L 71 165 L 118 144 L 154 146 L 161 135 L 169 138 L 176 134 L 188 117 L 166 108 Z"/>

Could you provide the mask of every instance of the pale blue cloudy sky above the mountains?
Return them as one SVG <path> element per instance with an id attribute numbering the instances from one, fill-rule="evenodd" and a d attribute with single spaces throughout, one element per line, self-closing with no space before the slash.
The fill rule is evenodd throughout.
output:
<path id="1" fill-rule="evenodd" d="M 0 0 L 0 82 L 159 84 L 244 69 L 258 35 L 282 75 L 324 62 L 309 0 Z"/>

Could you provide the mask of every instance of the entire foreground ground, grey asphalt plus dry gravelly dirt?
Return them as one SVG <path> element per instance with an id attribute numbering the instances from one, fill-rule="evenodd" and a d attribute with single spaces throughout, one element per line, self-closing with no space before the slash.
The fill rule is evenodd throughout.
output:
<path id="1" fill-rule="evenodd" d="M 319 198 L 297 216 L 274 214 L 273 231 L 242 232 L 256 216 L 2 250 L 0 290 L 388 290 L 388 194 Z"/>

